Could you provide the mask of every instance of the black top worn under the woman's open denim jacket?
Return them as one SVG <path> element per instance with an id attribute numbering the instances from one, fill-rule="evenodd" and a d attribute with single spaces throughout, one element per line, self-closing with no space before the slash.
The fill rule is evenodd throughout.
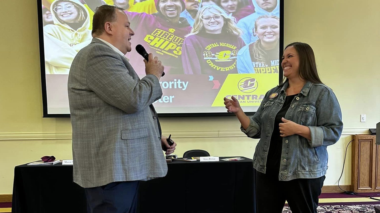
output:
<path id="1" fill-rule="evenodd" d="M 266 159 L 266 174 L 278 176 L 280 173 L 282 137 L 280 136 L 279 124 L 282 123 L 281 118 L 285 117 L 291 102 L 296 96 L 298 96 L 298 94 L 287 96 L 281 110 L 274 117 L 274 128 L 269 144 L 268 157 Z"/>

